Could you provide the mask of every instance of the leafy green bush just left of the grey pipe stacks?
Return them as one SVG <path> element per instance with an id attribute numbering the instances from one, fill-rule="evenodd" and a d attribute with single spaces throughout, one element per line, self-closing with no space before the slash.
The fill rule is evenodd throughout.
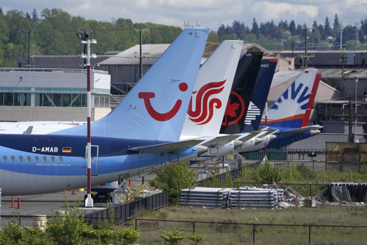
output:
<path id="1" fill-rule="evenodd" d="M 189 169 L 188 161 L 162 168 L 156 173 L 155 179 L 149 180 L 149 184 L 162 191 L 169 191 L 171 203 L 177 203 L 181 196 L 181 189 L 190 188 L 196 180 L 195 173 Z"/>

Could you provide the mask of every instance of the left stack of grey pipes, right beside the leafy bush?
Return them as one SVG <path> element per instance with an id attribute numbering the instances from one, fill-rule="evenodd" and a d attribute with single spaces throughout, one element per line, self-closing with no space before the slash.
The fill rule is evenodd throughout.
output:
<path id="1" fill-rule="evenodd" d="M 206 188 L 182 189 L 180 205 L 208 208 L 228 207 L 230 188 Z"/>

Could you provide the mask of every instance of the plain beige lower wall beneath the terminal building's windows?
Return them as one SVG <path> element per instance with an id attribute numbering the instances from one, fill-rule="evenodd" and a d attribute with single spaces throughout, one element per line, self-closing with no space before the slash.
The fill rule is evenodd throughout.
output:
<path id="1" fill-rule="evenodd" d="M 111 112 L 110 108 L 92 108 L 91 121 Z M 87 121 L 85 107 L 0 106 L 0 121 Z"/>

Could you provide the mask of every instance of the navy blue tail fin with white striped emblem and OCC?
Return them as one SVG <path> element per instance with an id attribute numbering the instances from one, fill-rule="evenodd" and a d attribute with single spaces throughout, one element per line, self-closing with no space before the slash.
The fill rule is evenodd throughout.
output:
<path id="1" fill-rule="evenodd" d="M 245 124 L 242 129 L 243 132 L 257 131 L 259 129 L 277 62 L 277 59 L 263 59 L 261 61 L 254 92 L 252 92 L 250 106 L 248 107 Z"/>

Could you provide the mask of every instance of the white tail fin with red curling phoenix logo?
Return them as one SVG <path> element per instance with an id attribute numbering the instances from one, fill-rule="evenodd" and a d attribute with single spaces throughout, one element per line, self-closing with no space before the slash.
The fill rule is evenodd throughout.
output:
<path id="1" fill-rule="evenodd" d="M 243 41 L 223 41 L 201 65 L 181 135 L 218 135 Z"/>

